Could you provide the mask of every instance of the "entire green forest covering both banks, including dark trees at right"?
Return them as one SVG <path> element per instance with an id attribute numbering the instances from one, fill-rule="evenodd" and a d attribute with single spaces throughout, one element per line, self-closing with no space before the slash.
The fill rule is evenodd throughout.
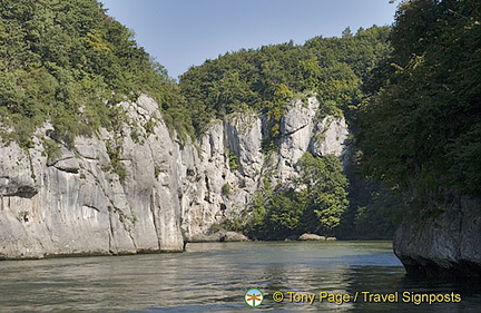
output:
<path id="1" fill-rule="evenodd" d="M 317 118 L 347 119 L 351 165 L 306 154 L 295 186 L 265 179 L 251 223 L 223 226 L 268 239 L 389 237 L 405 209 L 481 194 L 480 10 L 475 0 L 403 1 L 391 28 L 227 52 L 177 84 L 95 0 L 4 0 L 2 141 L 28 149 L 35 130 L 50 124 L 46 149 L 71 147 L 76 136 L 129 123 L 116 104 L 145 92 L 183 141 L 214 119 L 258 113 L 268 154 L 289 104 L 315 96 Z"/>

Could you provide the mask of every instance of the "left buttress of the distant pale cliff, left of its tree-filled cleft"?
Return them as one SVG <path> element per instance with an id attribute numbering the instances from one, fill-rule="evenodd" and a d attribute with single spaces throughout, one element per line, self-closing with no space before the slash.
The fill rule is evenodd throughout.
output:
<path id="1" fill-rule="evenodd" d="M 198 151 L 184 151 L 186 176 L 190 177 L 181 197 L 187 241 L 204 241 L 213 225 L 246 208 L 263 170 L 261 144 L 261 119 L 247 113 L 214 121 L 199 138 Z"/>

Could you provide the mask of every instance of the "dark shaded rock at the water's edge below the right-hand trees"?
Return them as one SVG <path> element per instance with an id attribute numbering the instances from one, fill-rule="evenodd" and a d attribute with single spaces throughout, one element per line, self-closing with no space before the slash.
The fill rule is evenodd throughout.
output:
<path id="1" fill-rule="evenodd" d="M 394 253 L 411 275 L 481 276 L 481 199 L 443 205 L 426 221 L 406 221 L 394 235 Z"/>

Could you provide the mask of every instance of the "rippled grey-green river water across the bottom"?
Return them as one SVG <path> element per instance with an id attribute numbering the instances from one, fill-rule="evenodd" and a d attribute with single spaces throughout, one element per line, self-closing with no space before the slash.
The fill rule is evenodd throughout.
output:
<path id="1" fill-rule="evenodd" d="M 479 285 L 409 280 L 390 242 L 202 243 L 175 254 L 3 261 L 0 274 L 1 312 L 481 312 Z M 264 294 L 256 309 L 244 300 L 249 288 Z M 415 304 L 418 294 L 460 301 Z"/>

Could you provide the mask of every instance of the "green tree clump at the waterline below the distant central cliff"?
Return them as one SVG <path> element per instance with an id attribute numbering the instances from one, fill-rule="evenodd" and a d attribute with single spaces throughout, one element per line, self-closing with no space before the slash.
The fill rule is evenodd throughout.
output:
<path id="1" fill-rule="evenodd" d="M 272 188 L 264 182 L 253 200 L 248 228 L 252 237 L 284 239 L 302 233 L 332 234 L 347 208 L 347 179 L 337 157 L 314 157 L 306 153 L 300 160 L 296 188 Z"/>

